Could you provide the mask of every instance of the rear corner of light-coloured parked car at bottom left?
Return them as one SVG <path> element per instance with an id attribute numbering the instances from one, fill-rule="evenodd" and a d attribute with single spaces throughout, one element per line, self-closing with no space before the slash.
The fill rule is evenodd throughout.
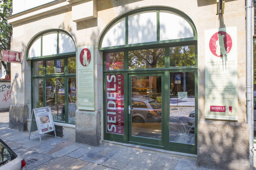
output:
<path id="1" fill-rule="evenodd" d="M 0 170 L 27 170 L 26 161 L 0 139 Z"/>

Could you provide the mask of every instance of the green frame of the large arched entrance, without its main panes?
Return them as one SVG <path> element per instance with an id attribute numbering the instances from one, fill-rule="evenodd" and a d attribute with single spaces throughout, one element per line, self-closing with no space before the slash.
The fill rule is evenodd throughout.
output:
<path id="1" fill-rule="evenodd" d="M 136 44 L 129 44 L 128 42 L 128 16 L 136 14 L 136 13 L 143 13 L 147 11 L 156 11 L 157 13 L 157 40 L 154 42 L 145 42 L 145 43 L 136 43 Z M 175 13 L 179 16 L 181 16 L 183 19 L 185 19 L 191 26 L 193 30 L 193 37 L 188 38 L 181 38 L 181 39 L 172 39 L 172 40 L 160 40 L 160 18 L 159 18 L 159 12 L 161 10 L 170 11 L 171 13 Z M 115 25 L 116 22 L 120 22 L 125 20 L 125 44 L 118 45 L 118 46 L 104 46 L 102 47 L 102 42 L 104 39 L 104 36 L 107 34 L 108 30 L 111 29 L 113 25 Z M 186 47 L 192 46 L 194 48 L 194 55 L 191 56 L 183 55 L 180 56 L 181 58 L 175 59 L 175 62 L 171 63 L 170 54 L 171 49 L 175 49 L 176 47 Z M 134 50 L 147 50 L 147 49 L 157 49 L 157 48 L 163 48 L 164 49 L 164 65 L 161 64 L 160 67 L 137 67 L 137 68 L 129 68 L 129 51 Z M 182 49 L 182 48 L 180 48 Z M 184 50 L 185 48 L 183 48 Z M 123 75 L 124 79 L 124 89 L 128 89 L 128 77 L 130 74 L 150 74 L 150 73 L 163 73 L 164 77 L 164 85 L 162 85 L 162 89 L 164 89 L 163 99 L 162 101 L 169 101 L 170 96 L 168 93 L 170 92 L 170 73 L 182 73 L 182 72 L 194 72 L 195 73 L 195 140 L 194 144 L 188 144 L 188 143 L 178 143 L 178 142 L 170 142 L 167 139 L 164 140 L 163 146 L 152 146 L 144 144 L 144 146 L 150 146 L 155 148 L 162 148 L 164 150 L 170 150 L 170 151 L 178 151 L 178 152 L 184 152 L 189 154 L 197 154 L 197 121 L 198 121 L 198 58 L 197 58 L 197 31 L 195 29 L 195 25 L 193 24 L 192 20 L 184 14 L 183 12 L 173 9 L 170 7 L 145 7 L 138 10 L 131 11 L 130 13 L 126 13 L 116 19 L 114 19 L 113 22 L 111 22 L 108 27 L 103 32 L 100 43 L 99 43 L 99 50 L 103 51 L 103 124 L 104 124 L 104 139 L 116 141 L 116 142 L 123 142 L 128 143 L 129 135 L 128 135 L 128 95 L 129 92 L 127 90 L 124 90 L 124 135 L 121 134 L 115 134 L 115 133 L 109 133 L 107 132 L 107 87 L 106 87 L 106 76 L 107 75 Z M 117 54 L 117 58 L 115 58 L 115 61 L 110 61 L 109 53 L 115 53 Z M 185 57 L 184 57 L 185 56 Z M 179 62 L 179 59 L 182 61 L 187 61 L 189 64 L 184 64 L 184 62 Z M 169 91 L 169 92 L 168 92 Z M 167 112 L 170 110 L 170 106 L 168 104 L 164 105 L 162 107 L 163 111 Z M 169 115 L 166 114 L 163 119 L 164 124 L 163 129 L 165 129 L 164 132 L 164 138 L 167 138 L 169 136 L 169 132 L 167 131 L 169 127 Z M 133 142 L 130 142 L 133 143 Z M 134 143 L 135 144 L 135 143 Z"/>

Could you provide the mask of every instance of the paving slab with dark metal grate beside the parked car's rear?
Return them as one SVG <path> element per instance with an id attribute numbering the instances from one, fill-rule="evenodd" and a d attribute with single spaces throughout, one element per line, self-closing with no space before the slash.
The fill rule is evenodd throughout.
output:
<path id="1" fill-rule="evenodd" d="M 48 155 L 33 152 L 24 148 L 17 148 L 14 150 L 14 152 L 19 154 L 26 160 L 28 169 L 33 169 L 53 159 L 53 157 L 50 157 Z"/>

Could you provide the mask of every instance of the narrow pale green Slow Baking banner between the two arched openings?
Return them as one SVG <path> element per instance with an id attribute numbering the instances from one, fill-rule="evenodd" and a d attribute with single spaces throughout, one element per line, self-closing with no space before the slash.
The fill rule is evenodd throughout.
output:
<path id="1" fill-rule="evenodd" d="M 77 48 L 78 109 L 95 110 L 94 46 Z"/>

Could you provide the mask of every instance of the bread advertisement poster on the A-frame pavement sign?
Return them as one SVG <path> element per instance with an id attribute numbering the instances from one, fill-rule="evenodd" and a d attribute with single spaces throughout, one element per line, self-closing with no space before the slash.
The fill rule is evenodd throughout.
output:
<path id="1" fill-rule="evenodd" d="M 33 111 L 36 118 L 37 129 L 40 135 L 55 130 L 50 107 L 36 108 Z"/>

